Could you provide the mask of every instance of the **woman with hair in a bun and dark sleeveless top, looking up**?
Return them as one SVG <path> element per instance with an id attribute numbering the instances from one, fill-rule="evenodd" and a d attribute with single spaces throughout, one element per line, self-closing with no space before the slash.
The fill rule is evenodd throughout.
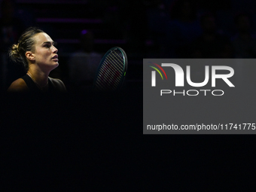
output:
<path id="1" fill-rule="evenodd" d="M 59 79 L 50 78 L 50 72 L 59 66 L 58 50 L 47 33 L 29 27 L 20 36 L 17 44 L 9 50 L 14 62 L 23 62 L 26 75 L 14 81 L 8 92 L 59 92 L 66 87 Z"/>

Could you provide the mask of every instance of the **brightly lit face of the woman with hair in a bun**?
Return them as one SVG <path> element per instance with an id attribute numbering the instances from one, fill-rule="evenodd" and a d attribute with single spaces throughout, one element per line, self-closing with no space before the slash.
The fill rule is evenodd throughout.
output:
<path id="1" fill-rule="evenodd" d="M 50 36 L 41 32 L 35 35 L 34 39 L 35 50 L 33 51 L 33 55 L 35 63 L 37 63 L 41 69 L 50 71 L 59 66 L 59 59 L 56 54 L 58 50 L 54 47 L 54 42 Z"/>

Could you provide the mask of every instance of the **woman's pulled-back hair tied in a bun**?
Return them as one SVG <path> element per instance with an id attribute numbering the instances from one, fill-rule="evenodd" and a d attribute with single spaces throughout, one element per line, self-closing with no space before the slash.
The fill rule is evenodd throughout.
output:
<path id="1" fill-rule="evenodd" d="M 26 70 L 29 69 L 29 63 L 26 59 L 26 52 L 34 50 L 34 36 L 40 32 L 44 32 L 36 27 L 29 27 L 20 36 L 17 44 L 13 44 L 9 50 L 9 56 L 14 62 L 23 62 L 23 66 Z"/>

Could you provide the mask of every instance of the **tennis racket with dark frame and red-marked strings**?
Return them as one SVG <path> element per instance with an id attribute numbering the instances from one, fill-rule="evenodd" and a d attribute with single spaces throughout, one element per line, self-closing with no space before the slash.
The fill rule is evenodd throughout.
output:
<path id="1" fill-rule="evenodd" d="M 120 47 L 112 47 L 102 57 L 94 79 L 94 90 L 119 90 L 127 70 L 126 53 Z"/>

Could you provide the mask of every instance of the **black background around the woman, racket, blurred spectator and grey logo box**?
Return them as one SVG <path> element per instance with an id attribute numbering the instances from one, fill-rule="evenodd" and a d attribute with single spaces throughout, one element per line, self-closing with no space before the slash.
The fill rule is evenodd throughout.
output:
<path id="1" fill-rule="evenodd" d="M 198 186 L 215 191 L 254 184 L 254 136 L 142 135 L 142 59 L 254 58 L 254 2 L 20 0 L 13 10 L 8 6 L 1 24 L 3 191 Z M 23 74 L 21 66 L 9 63 L 8 47 L 29 26 L 57 41 L 59 67 L 51 75 L 62 79 L 69 93 L 5 93 Z M 73 87 L 69 57 L 81 48 L 84 29 L 93 32 L 97 53 L 114 46 L 126 50 L 129 66 L 120 92 Z"/>

